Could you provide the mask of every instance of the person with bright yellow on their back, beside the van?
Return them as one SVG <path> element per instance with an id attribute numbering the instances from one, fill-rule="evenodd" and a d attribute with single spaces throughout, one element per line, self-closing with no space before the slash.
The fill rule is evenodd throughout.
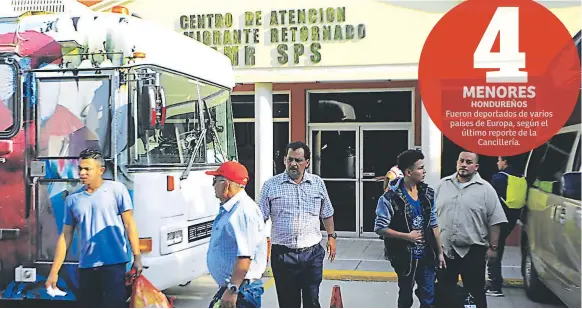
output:
<path id="1" fill-rule="evenodd" d="M 498 157 L 497 168 L 499 172 L 493 175 L 491 180 L 491 185 L 495 188 L 507 217 L 507 224 L 501 225 L 500 228 L 497 257 L 487 262 L 489 280 L 486 294 L 488 296 L 503 296 L 501 289 L 503 285 L 501 260 L 503 259 L 505 240 L 515 227 L 527 197 L 527 181 L 523 174 L 514 167 L 513 161 L 515 159 L 516 157 Z"/>

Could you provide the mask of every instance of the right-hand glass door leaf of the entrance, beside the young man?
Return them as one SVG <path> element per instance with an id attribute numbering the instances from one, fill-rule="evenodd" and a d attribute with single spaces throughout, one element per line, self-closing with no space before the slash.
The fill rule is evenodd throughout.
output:
<path id="1" fill-rule="evenodd" d="M 397 156 L 412 147 L 412 132 L 406 125 L 360 126 L 358 154 L 360 158 L 360 226 L 361 237 L 377 237 L 374 233 L 376 206 L 384 194 L 383 179 L 397 163 Z"/>

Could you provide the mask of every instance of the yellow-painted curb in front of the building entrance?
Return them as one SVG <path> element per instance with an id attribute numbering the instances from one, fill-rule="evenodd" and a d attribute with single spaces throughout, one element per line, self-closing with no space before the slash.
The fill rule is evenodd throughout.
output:
<path id="1" fill-rule="evenodd" d="M 270 267 L 265 270 L 263 277 L 273 277 L 273 272 Z M 326 269 L 323 270 L 323 279 L 339 281 L 396 282 L 398 277 L 393 271 Z M 503 281 L 506 287 L 523 287 L 523 279 L 505 278 Z M 461 282 L 462 281 L 459 277 L 459 283 Z"/>

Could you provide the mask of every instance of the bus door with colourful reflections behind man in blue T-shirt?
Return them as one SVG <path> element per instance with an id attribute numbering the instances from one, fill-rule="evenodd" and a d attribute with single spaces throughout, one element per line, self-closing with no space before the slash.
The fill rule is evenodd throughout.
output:
<path id="1" fill-rule="evenodd" d="M 30 181 L 35 191 L 38 221 L 36 264 L 50 266 L 63 227 L 67 196 L 82 189 L 78 156 L 84 149 L 100 150 L 105 158 L 105 179 L 114 179 L 116 153 L 111 143 L 113 93 L 118 85 L 114 70 L 52 71 L 34 73 L 36 89 L 36 149 Z M 77 233 L 65 260 L 65 274 L 76 277 Z M 48 271 L 45 270 L 45 271 Z"/>

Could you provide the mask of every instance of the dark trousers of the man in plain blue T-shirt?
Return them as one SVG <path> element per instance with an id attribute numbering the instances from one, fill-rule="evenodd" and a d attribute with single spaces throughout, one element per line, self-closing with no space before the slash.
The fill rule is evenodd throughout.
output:
<path id="1" fill-rule="evenodd" d="M 125 263 L 80 268 L 79 301 L 82 308 L 127 308 Z"/>

